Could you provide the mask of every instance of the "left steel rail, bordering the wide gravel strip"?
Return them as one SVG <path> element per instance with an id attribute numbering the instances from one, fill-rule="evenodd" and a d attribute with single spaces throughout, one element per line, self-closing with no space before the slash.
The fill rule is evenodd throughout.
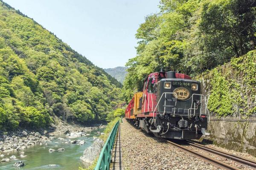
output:
<path id="1" fill-rule="evenodd" d="M 162 138 L 162 139 L 163 139 L 163 138 Z M 224 163 L 224 162 L 218 161 L 218 160 L 216 160 L 216 159 L 210 158 L 209 156 L 205 156 L 205 155 L 203 155 L 203 154 L 201 154 L 201 153 L 198 153 L 198 152 L 196 152 L 196 151 L 194 151 L 194 150 L 190 150 L 189 148 L 183 147 L 183 146 L 181 146 L 180 144 L 177 144 L 177 143 L 175 143 L 175 142 L 171 142 L 171 141 L 168 141 L 168 140 L 166 140 L 166 139 L 163 139 L 163 140 L 166 141 L 166 142 L 168 142 L 168 143 L 170 143 L 170 144 L 172 144 L 172 145 L 174 145 L 175 147 L 178 147 L 178 148 L 180 148 L 180 149 L 182 149 L 182 150 L 188 152 L 188 153 L 192 153 L 193 155 L 197 156 L 197 157 L 200 158 L 200 159 L 204 159 L 205 161 L 207 161 L 207 162 L 209 162 L 209 163 L 211 163 L 211 164 L 215 164 L 217 167 L 221 167 L 221 168 L 224 168 L 224 169 L 227 169 L 227 170 L 240 170 L 240 169 L 237 168 L 237 167 L 234 167 L 234 166 L 232 166 L 232 165 L 229 165 L 229 164 L 226 164 L 226 163 Z"/>

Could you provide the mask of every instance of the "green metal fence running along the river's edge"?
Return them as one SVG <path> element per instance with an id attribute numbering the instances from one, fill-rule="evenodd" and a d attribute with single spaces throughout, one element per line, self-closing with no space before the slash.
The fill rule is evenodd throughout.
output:
<path id="1" fill-rule="evenodd" d="M 104 147 L 99 155 L 99 159 L 97 161 L 96 167 L 94 170 L 109 170 L 109 164 L 111 161 L 111 150 L 113 149 L 116 132 L 119 127 L 119 120 L 114 125 L 111 133 L 108 136 L 107 141 L 105 142 Z"/>

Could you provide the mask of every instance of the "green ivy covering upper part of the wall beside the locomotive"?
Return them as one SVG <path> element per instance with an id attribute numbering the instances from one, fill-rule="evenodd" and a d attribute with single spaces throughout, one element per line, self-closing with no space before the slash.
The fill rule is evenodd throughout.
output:
<path id="1" fill-rule="evenodd" d="M 210 92 L 209 111 L 218 117 L 256 113 L 256 50 L 199 77 L 204 91 Z"/>

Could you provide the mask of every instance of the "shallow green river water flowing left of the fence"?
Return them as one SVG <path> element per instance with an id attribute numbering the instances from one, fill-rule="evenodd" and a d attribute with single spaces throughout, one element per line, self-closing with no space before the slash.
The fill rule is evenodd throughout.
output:
<path id="1" fill-rule="evenodd" d="M 35 145 L 26 150 L 26 158 L 20 158 L 20 151 L 11 152 L 9 156 L 15 155 L 18 160 L 10 159 L 8 163 L 0 163 L 0 170 L 78 170 L 82 165 L 80 156 L 83 155 L 84 149 L 93 143 L 93 136 L 99 136 L 97 131 L 102 132 L 104 128 L 92 130 L 89 136 L 81 136 L 71 140 L 84 140 L 85 144 L 65 144 L 58 140 L 58 137 L 66 138 L 64 135 L 56 136 L 48 145 Z M 64 152 L 58 152 L 58 148 L 63 147 Z M 55 152 L 49 153 L 49 148 L 55 149 Z M 6 153 L 4 153 L 6 154 Z M 6 158 L 7 156 L 3 157 Z M 1 158 L 1 159 L 3 159 Z M 13 167 L 16 161 L 23 161 L 24 167 Z M 55 164 L 55 166 L 49 166 Z"/>

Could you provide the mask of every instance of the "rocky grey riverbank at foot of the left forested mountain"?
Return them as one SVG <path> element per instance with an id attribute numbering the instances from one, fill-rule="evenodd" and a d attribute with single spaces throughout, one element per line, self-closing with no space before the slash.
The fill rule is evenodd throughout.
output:
<path id="1" fill-rule="evenodd" d="M 65 134 L 70 140 L 63 142 L 70 143 L 73 138 L 89 135 L 91 130 L 104 128 L 105 125 L 97 124 L 92 127 L 86 127 L 76 124 L 67 124 L 58 121 L 58 124 L 52 124 L 48 129 L 27 130 L 19 129 L 10 131 L 6 134 L 0 133 L 0 156 L 5 157 L 9 152 L 26 150 L 34 145 L 47 145 L 56 136 Z"/>

